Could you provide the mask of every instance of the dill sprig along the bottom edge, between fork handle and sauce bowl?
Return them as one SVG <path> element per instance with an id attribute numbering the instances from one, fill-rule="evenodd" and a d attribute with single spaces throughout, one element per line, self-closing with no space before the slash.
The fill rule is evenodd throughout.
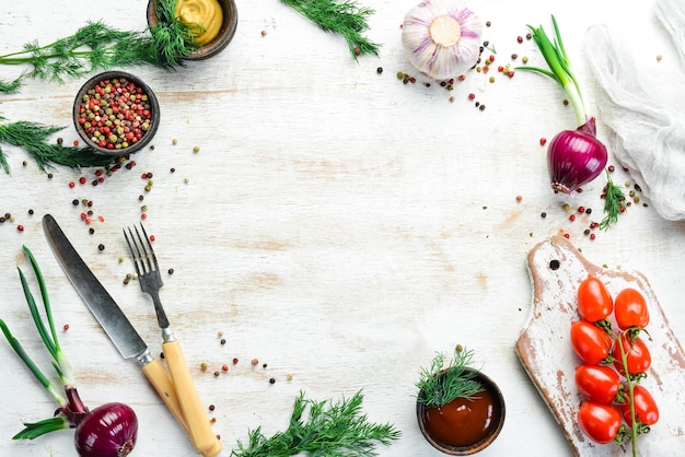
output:
<path id="1" fill-rule="evenodd" d="M 304 394 L 295 398 L 290 424 L 285 432 L 271 437 L 262 433 L 262 427 L 249 431 L 249 443 L 237 442 L 233 457 L 286 457 L 304 453 L 309 456 L 375 456 L 375 443 L 390 445 L 399 438 L 399 431 L 392 424 L 374 424 L 361 413 L 363 395 L 334 402 L 305 399 Z M 309 417 L 303 420 L 309 407 Z"/>

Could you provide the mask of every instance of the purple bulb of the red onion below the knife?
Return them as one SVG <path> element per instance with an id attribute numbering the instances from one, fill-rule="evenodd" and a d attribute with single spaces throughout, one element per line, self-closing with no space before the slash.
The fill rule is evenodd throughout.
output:
<path id="1" fill-rule="evenodd" d="M 81 457 L 125 457 L 133 450 L 138 418 L 124 403 L 106 403 L 90 411 L 77 426 L 74 442 Z"/>

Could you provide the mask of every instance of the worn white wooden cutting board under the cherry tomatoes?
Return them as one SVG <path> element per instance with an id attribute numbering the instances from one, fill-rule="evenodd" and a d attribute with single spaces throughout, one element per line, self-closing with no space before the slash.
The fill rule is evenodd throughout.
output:
<path id="1" fill-rule="evenodd" d="M 648 377 L 641 384 L 650 390 L 660 409 L 660 420 L 651 432 L 638 437 L 640 456 L 685 456 L 685 354 L 669 320 L 639 272 L 609 270 L 588 261 L 564 236 L 537 244 L 529 254 L 533 305 L 525 328 L 516 341 L 516 353 L 535 387 L 547 402 L 573 453 L 578 456 L 628 456 L 629 445 L 597 445 L 577 424 L 583 397 L 574 383 L 581 362 L 570 344 L 570 323 L 579 318 L 577 290 L 593 274 L 612 296 L 625 288 L 642 292 L 650 309 L 647 327 L 651 339 L 642 338 L 652 355 Z"/>

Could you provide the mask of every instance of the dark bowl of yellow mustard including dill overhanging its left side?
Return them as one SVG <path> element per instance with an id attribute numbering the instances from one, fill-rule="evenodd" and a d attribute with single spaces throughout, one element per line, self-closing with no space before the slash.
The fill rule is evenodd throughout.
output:
<path id="1" fill-rule="evenodd" d="M 148 25 L 161 25 L 167 33 L 181 31 L 185 45 L 176 49 L 183 60 L 204 60 L 221 52 L 233 39 L 237 28 L 234 0 L 149 0 Z M 152 31 L 152 35 L 155 33 Z M 166 35 L 166 34 L 165 34 Z"/>

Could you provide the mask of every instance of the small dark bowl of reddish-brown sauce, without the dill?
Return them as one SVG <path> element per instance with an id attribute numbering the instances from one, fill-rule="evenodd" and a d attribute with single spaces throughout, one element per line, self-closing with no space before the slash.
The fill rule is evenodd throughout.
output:
<path id="1" fill-rule="evenodd" d="M 483 391 L 468 400 L 456 398 L 441 408 L 417 402 L 416 413 L 423 437 L 438 450 L 451 456 L 468 456 L 488 447 L 504 424 L 504 398 L 499 387 L 485 374 L 475 380 Z"/>

